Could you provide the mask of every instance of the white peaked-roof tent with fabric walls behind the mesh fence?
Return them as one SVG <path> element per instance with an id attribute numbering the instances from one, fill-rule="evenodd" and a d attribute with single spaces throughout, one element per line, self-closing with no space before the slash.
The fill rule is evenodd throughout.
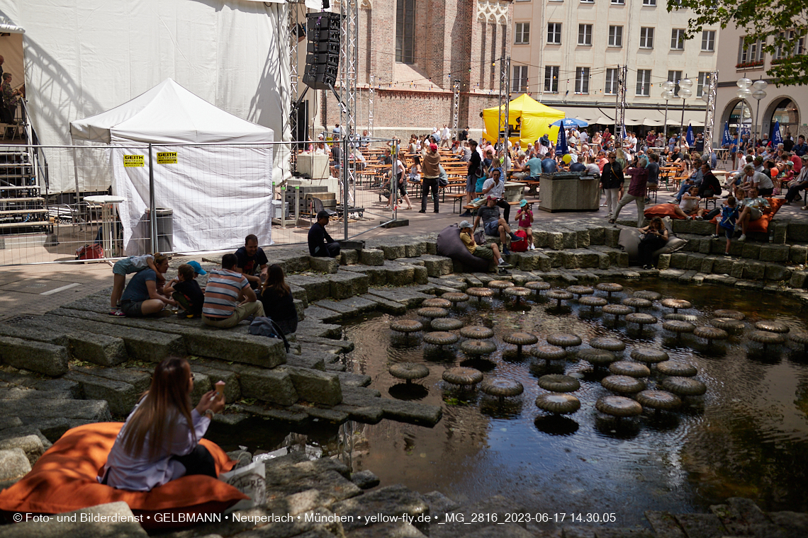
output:
<path id="1" fill-rule="evenodd" d="M 150 175 L 157 205 L 173 211 L 175 252 L 235 247 L 250 233 L 271 244 L 270 128 L 228 114 L 169 78 L 110 111 L 71 122 L 70 134 L 111 144 L 112 188 L 126 199 L 119 211 L 127 255 L 149 248 Z M 267 145 L 166 145 L 256 143 Z M 151 159 L 145 144 L 152 144 Z"/>

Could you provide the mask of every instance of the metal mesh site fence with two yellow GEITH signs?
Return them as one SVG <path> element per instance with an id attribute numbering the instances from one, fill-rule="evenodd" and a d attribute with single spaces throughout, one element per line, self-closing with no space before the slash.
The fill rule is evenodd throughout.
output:
<path id="1" fill-rule="evenodd" d="M 386 140 L 2 146 L 0 265 L 305 243 L 318 211 L 349 239 L 394 218 L 391 169 Z"/>

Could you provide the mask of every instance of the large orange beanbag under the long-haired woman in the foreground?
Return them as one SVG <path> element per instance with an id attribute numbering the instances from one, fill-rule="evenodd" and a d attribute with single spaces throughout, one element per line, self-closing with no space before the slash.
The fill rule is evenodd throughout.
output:
<path id="1" fill-rule="evenodd" d="M 0 492 L 0 511 L 11 521 L 17 512 L 60 514 L 124 501 L 134 515 L 143 515 L 143 528 L 170 528 L 187 527 L 188 518 L 180 522 L 179 517 L 166 515 L 158 522 L 154 514 L 218 514 L 248 498 L 233 486 L 203 475 L 178 478 L 151 491 L 116 490 L 100 484 L 96 476 L 123 426 L 120 422 L 94 423 L 65 432 L 25 478 Z M 217 444 L 206 439 L 200 444 L 213 456 L 218 473 L 233 469 L 236 462 Z"/>

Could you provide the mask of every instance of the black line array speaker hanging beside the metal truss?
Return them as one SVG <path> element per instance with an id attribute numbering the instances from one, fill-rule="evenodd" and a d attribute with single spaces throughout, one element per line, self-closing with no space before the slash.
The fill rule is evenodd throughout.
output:
<path id="1" fill-rule="evenodd" d="M 339 13 L 306 15 L 309 43 L 306 45 L 303 83 L 315 90 L 328 90 L 337 81 L 339 71 Z"/>

